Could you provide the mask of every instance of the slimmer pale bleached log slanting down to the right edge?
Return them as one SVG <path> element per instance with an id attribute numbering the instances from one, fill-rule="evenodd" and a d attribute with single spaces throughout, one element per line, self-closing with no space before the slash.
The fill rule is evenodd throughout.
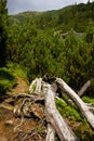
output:
<path id="1" fill-rule="evenodd" d="M 90 106 L 88 106 L 79 95 L 61 78 L 56 78 L 57 85 L 61 86 L 62 90 L 67 92 L 67 94 L 72 99 L 72 101 L 77 104 L 82 115 L 86 118 L 88 123 L 94 130 L 94 115 L 90 111 Z"/>

